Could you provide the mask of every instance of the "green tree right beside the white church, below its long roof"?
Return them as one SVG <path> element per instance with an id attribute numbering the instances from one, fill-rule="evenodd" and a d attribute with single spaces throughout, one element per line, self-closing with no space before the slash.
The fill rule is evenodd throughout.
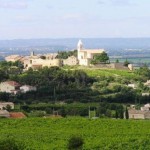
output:
<path id="1" fill-rule="evenodd" d="M 108 60 L 109 60 L 109 57 L 108 57 L 107 53 L 103 52 L 101 54 L 94 55 L 94 58 L 91 61 L 91 64 L 107 63 Z"/>

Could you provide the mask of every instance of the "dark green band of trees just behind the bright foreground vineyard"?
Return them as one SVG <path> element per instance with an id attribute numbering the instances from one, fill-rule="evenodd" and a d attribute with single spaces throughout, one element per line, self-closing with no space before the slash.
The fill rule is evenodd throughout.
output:
<path id="1" fill-rule="evenodd" d="M 90 105 L 90 104 L 89 104 Z M 124 107 L 122 104 L 116 104 L 116 103 L 107 103 L 107 102 L 101 102 L 97 103 L 95 106 L 92 106 L 89 108 L 88 105 L 80 105 L 74 106 L 71 105 L 57 105 L 57 104 L 51 104 L 51 105 L 22 105 L 21 110 L 27 112 L 28 114 L 34 114 L 34 115 L 40 115 L 40 117 L 46 114 L 55 114 L 54 112 L 57 112 L 57 115 L 61 115 L 63 117 L 66 116 L 89 116 L 89 111 L 94 110 L 97 117 L 109 117 L 109 118 L 124 118 Z M 46 112 L 43 113 L 43 112 Z"/>

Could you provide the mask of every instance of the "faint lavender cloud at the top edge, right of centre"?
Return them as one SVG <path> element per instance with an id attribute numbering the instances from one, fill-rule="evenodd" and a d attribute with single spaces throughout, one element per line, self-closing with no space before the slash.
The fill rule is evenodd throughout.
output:
<path id="1" fill-rule="evenodd" d="M 99 0 L 98 4 L 108 4 L 113 6 L 130 6 L 133 4 L 135 5 L 135 3 L 133 3 L 133 1 L 131 0 Z"/>

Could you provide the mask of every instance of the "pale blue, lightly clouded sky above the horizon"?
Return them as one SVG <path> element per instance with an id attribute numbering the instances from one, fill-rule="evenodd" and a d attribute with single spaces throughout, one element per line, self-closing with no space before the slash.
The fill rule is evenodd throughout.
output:
<path id="1" fill-rule="evenodd" d="M 150 37 L 150 0 L 0 0 L 0 40 Z"/>

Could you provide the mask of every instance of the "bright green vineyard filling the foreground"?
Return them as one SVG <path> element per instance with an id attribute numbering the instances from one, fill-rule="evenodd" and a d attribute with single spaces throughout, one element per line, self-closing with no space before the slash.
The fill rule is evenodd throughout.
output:
<path id="1" fill-rule="evenodd" d="M 80 135 L 85 150 L 148 150 L 148 120 L 87 118 L 1 119 L 0 141 L 15 139 L 29 150 L 66 150 L 68 139 Z"/>

